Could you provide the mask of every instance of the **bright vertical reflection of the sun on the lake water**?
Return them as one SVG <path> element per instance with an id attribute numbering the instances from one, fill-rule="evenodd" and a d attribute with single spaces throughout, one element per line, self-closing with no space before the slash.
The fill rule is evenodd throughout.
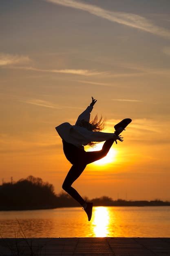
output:
<path id="1" fill-rule="evenodd" d="M 106 207 L 95 207 L 93 220 L 93 231 L 96 237 L 106 237 L 108 235 L 108 225 L 110 222 L 109 211 Z"/>

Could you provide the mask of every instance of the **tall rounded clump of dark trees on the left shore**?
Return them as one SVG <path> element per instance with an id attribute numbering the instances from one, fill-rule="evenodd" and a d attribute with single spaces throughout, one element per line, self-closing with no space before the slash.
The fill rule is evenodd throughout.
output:
<path id="1" fill-rule="evenodd" d="M 0 210 L 54 208 L 56 199 L 53 185 L 39 177 L 29 176 L 0 186 Z"/>

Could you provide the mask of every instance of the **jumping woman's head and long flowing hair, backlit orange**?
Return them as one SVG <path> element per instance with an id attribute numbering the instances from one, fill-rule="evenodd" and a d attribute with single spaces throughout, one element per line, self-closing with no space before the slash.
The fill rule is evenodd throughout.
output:
<path id="1" fill-rule="evenodd" d="M 106 126 L 106 118 L 103 118 L 102 115 L 100 118 L 98 118 L 97 115 L 95 115 L 94 118 L 90 119 L 90 122 L 85 121 L 84 119 L 79 121 L 78 126 L 84 127 L 89 131 L 93 131 L 93 132 L 100 132 L 102 131 L 105 126 Z M 99 142 L 97 141 L 90 141 L 88 142 L 88 146 L 94 147 L 95 144 L 97 144 Z"/>

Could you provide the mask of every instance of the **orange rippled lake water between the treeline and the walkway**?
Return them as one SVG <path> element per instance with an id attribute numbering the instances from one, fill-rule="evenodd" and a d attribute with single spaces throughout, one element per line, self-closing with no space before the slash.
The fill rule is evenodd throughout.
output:
<path id="1" fill-rule="evenodd" d="M 21 228 L 26 237 L 170 237 L 170 207 L 93 207 L 91 222 L 81 207 L 0 212 L 3 238 Z"/>

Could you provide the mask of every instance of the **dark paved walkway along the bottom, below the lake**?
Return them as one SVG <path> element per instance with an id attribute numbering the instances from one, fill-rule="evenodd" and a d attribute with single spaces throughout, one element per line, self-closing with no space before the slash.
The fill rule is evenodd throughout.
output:
<path id="1" fill-rule="evenodd" d="M 170 238 L 1 238 L 2 256 L 170 256 Z"/>

